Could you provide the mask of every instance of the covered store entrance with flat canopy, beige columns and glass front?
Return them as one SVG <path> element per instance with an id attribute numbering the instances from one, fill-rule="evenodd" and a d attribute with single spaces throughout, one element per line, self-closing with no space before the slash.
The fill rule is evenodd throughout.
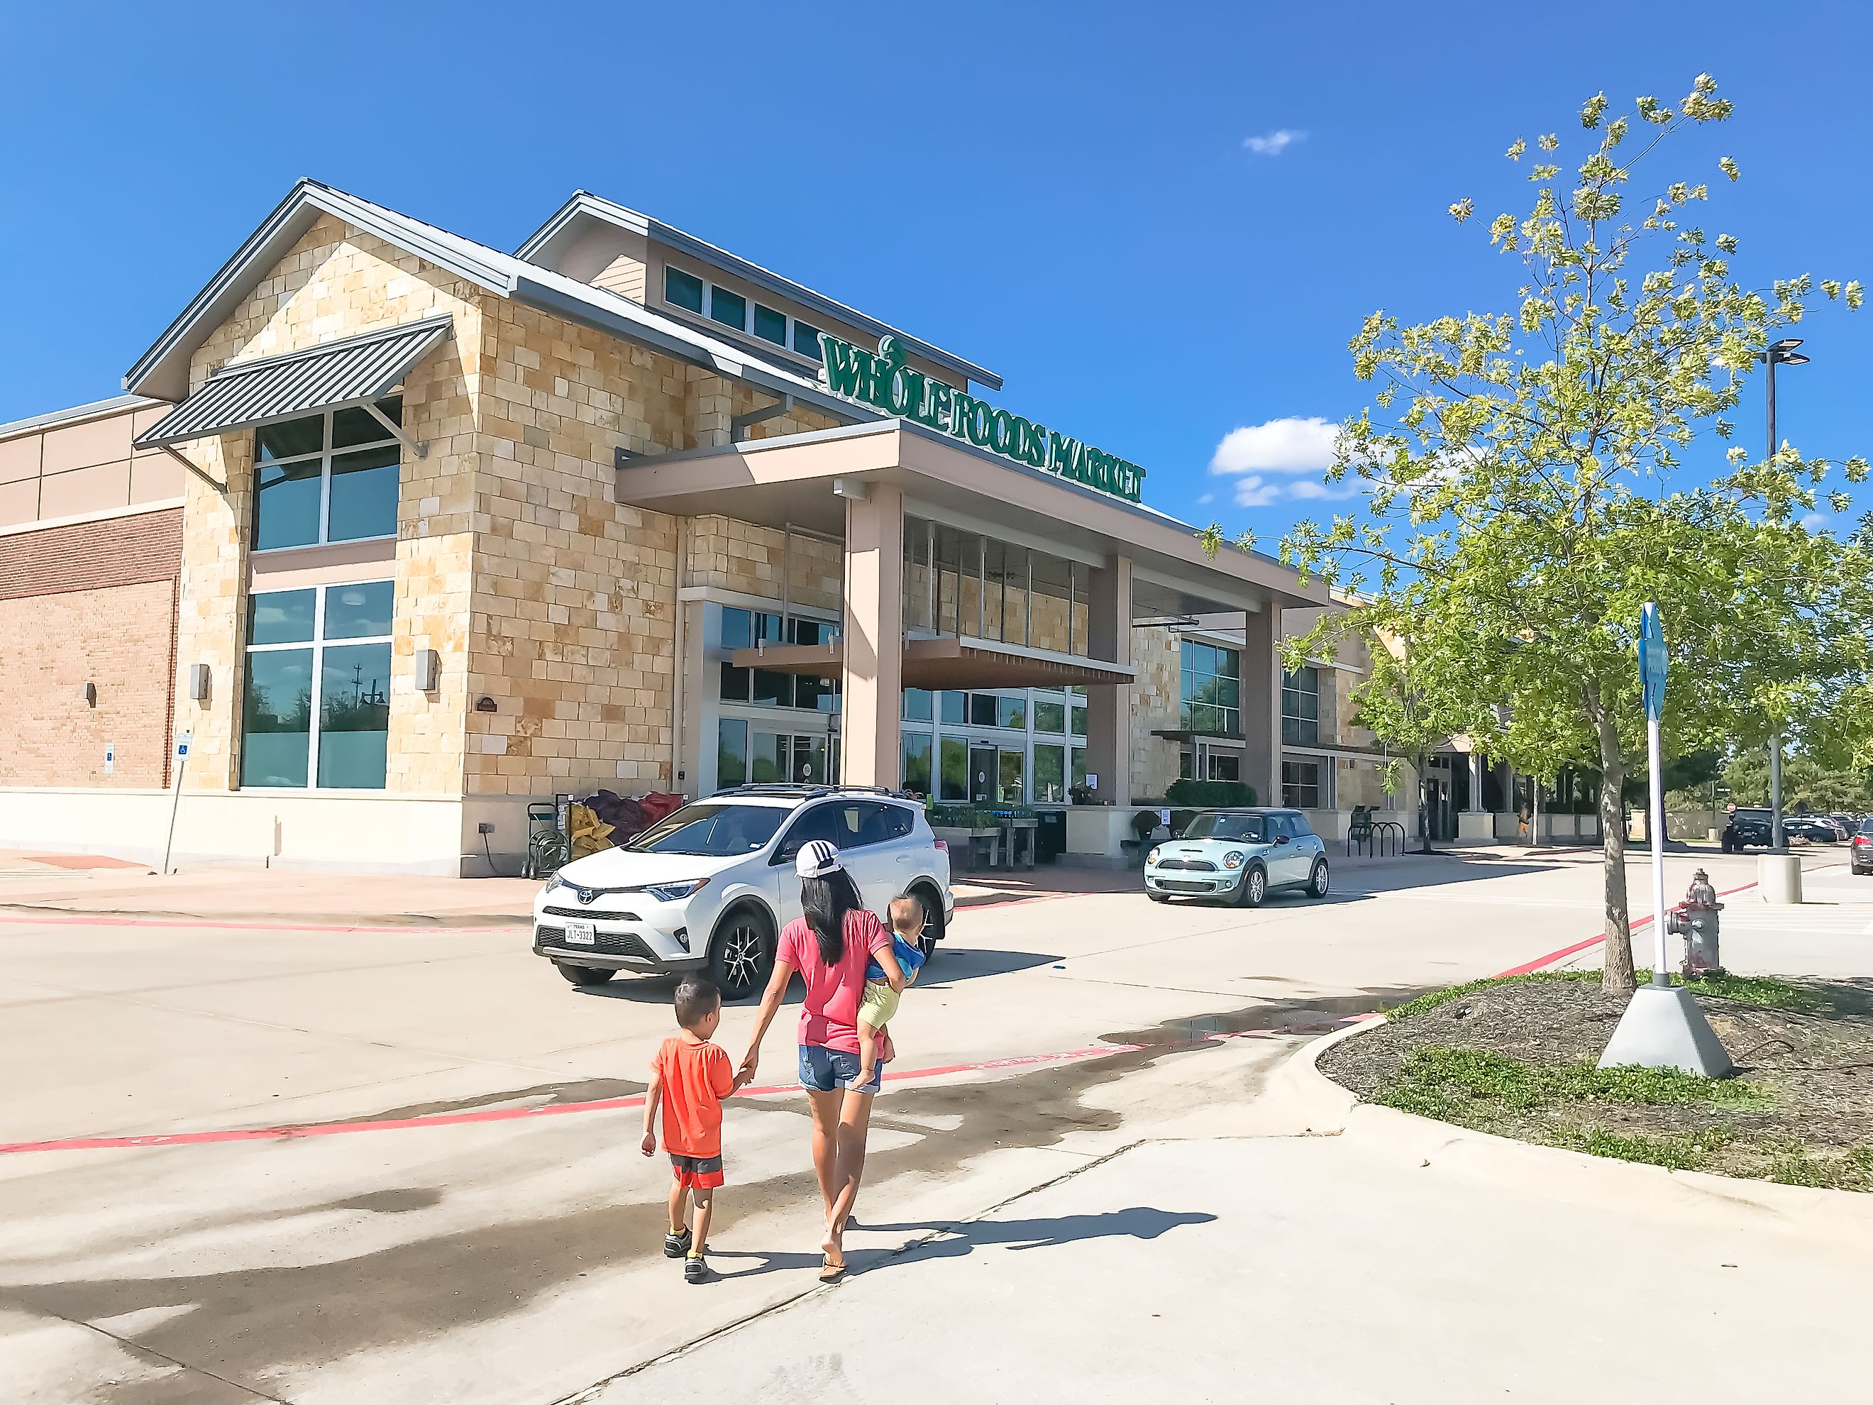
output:
<path id="1" fill-rule="evenodd" d="M 686 650 L 693 792 L 839 779 L 1060 809 L 1069 854 L 1113 858 L 1135 794 L 1174 779 L 1143 774 L 1150 744 L 1189 740 L 1135 734 L 1137 695 L 1176 693 L 1174 656 L 1139 641 L 1221 614 L 1242 622 L 1242 676 L 1219 699 L 1240 723 L 1201 742 L 1234 747 L 1240 779 L 1281 796 L 1281 611 L 1315 592 L 1268 558 L 1208 556 L 1122 491 L 884 420 L 620 455 L 616 495 L 779 532 L 783 596 L 824 553 L 830 590 L 811 603 L 680 592 L 682 633 L 701 641 Z"/>

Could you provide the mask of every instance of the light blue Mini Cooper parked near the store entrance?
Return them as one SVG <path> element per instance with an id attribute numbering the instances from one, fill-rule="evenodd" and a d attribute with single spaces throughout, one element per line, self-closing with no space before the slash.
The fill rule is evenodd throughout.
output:
<path id="1" fill-rule="evenodd" d="M 1298 809 L 1204 809 L 1144 854 L 1144 894 L 1261 907 L 1277 888 L 1326 897 L 1326 845 Z"/>

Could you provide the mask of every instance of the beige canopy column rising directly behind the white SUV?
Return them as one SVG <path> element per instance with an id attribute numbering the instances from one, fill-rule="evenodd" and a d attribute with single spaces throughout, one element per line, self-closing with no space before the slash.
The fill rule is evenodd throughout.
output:
<path id="1" fill-rule="evenodd" d="M 845 669 L 839 779 L 897 789 L 905 674 L 905 498 L 867 483 L 845 500 Z"/>

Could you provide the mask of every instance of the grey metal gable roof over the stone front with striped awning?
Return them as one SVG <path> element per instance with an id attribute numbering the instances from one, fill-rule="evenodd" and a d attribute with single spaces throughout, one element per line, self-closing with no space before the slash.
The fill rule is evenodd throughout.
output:
<path id="1" fill-rule="evenodd" d="M 875 410 L 837 399 L 819 380 L 766 362 L 744 347 L 641 307 L 607 288 L 594 288 L 511 253 L 425 225 L 356 195 L 302 180 L 262 221 L 227 264 L 169 324 L 161 337 L 124 375 L 124 388 L 155 399 L 182 401 L 189 393 L 189 358 L 253 290 L 253 285 L 303 238 L 322 214 L 376 234 L 457 277 L 607 335 L 656 347 L 732 380 L 749 380 L 775 395 L 794 395 L 841 423 L 880 418 Z"/>

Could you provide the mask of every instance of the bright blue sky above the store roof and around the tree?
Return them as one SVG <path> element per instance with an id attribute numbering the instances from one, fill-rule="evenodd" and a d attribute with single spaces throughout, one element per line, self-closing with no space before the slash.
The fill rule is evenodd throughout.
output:
<path id="1" fill-rule="evenodd" d="M 302 174 L 500 247 L 586 187 L 995 367 L 1000 403 L 1144 465 L 1154 506 L 1274 538 L 1341 506 L 1298 496 L 1326 435 L 1287 422 L 1360 408 L 1367 311 L 1513 303 L 1485 232 L 1526 197 L 1508 142 L 1699 71 L 1738 116 L 1686 174 L 1742 163 L 1708 214 L 1738 272 L 1873 283 L 1866 6 L 307 13 L 0 19 L 28 60 L 0 90 L 0 420 L 116 393 Z M 1802 335 L 1783 435 L 1873 451 L 1873 305 Z M 1761 444 L 1757 393 L 1738 429 Z"/>

